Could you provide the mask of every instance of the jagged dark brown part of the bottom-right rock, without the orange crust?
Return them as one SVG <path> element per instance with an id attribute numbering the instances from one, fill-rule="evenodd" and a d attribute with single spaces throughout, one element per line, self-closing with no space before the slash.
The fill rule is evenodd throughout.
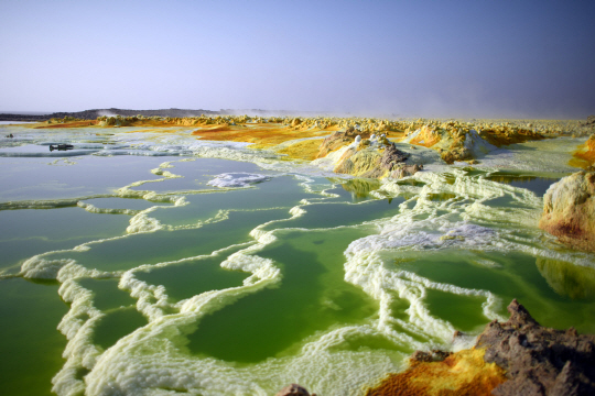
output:
<path id="1" fill-rule="evenodd" d="M 506 371 L 495 396 L 594 395 L 595 336 L 540 326 L 516 299 L 510 319 L 493 321 L 477 339 L 484 360 Z"/>

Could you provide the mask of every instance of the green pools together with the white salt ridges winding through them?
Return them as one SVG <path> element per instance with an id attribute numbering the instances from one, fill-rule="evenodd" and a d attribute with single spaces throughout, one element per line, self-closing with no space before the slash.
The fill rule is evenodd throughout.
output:
<path id="1" fill-rule="evenodd" d="M 345 179 L 184 129 L 126 132 L 95 136 L 128 155 L 0 157 L 7 394 L 360 395 L 512 298 L 595 332 L 594 256 L 537 228 L 563 172 Z"/>

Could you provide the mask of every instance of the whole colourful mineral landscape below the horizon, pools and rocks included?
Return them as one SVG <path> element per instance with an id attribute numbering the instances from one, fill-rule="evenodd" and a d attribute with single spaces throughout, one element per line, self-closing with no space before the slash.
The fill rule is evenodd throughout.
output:
<path id="1" fill-rule="evenodd" d="M 2 124 L 0 388 L 588 394 L 594 127 Z"/>

